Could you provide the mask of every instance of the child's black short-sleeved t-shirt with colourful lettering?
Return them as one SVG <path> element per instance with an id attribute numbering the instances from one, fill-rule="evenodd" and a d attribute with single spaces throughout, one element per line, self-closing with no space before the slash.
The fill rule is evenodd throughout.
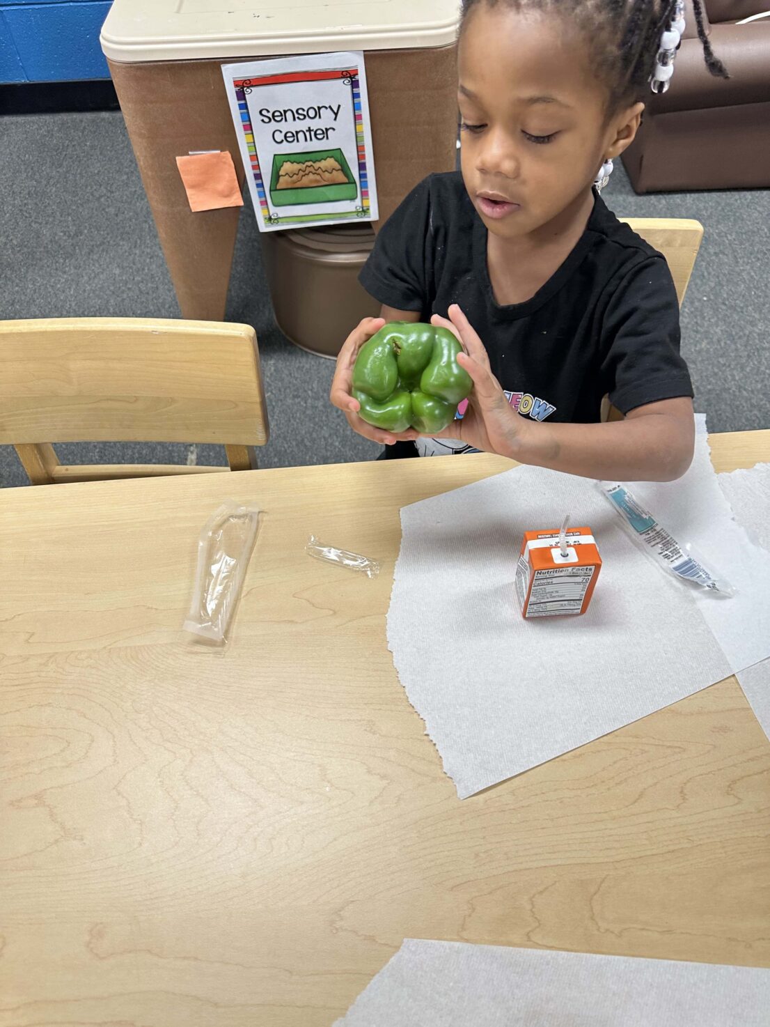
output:
<path id="1" fill-rule="evenodd" d="M 590 423 L 608 394 L 623 414 L 693 394 L 665 259 L 598 194 L 572 253 L 524 303 L 496 302 L 487 229 L 458 172 L 431 175 L 409 194 L 380 230 L 360 281 L 380 303 L 419 310 L 424 321 L 458 303 L 523 416 Z"/>

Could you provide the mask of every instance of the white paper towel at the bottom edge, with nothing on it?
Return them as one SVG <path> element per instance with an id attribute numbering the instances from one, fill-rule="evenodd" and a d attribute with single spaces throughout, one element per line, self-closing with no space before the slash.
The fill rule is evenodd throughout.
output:
<path id="1" fill-rule="evenodd" d="M 334 1027 L 767 1027 L 770 971 L 406 939 Z"/>

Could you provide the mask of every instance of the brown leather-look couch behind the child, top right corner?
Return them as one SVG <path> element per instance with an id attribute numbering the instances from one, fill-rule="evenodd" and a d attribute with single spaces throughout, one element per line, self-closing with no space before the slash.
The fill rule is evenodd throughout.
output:
<path id="1" fill-rule="evenodd" d="M 715 78 L 688 0 L 687 29 L 667 92 L 647 98 L 623 164 L 638 193 L 770 187 L 770 0 L 705 0 L 706 31 L 730 73 Z"/>

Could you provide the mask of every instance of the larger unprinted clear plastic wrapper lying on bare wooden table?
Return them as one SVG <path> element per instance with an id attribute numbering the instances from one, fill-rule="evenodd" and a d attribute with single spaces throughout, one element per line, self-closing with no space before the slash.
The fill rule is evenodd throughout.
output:
<path id="1" fill-rule="evenodd" d="M 206 521 L 198 538 L 190 612 L 184 630 L 211 645 L 225 645 L 257 539 L 260 511 L 226 502 Z"/>

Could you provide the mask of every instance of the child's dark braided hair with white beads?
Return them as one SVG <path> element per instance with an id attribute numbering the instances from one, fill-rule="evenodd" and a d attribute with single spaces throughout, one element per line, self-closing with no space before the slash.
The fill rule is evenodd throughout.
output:
<path id="1" fill-rule="evenodd" d="M 655 88 L 661 35 L 670 35 L 677 29 L 682 9 L 681 0 L 462 0 L 461 33 L 470 12 L 482 3 L 489 7 L 504 4 L 515 11 L 554 13 L 569 20 L 587 40 L 596 74 L 613 98 L 614 108 L 642 100 L 651 80 Z M 702 0 L 692 0 L 692 5 L 706 68 L 711 75 L 729 78 L 708 42 Z M 672 52 L 663 60 L 670 64 Z M 667 81 L 663 89 L 655 91 L 666 87 Z"/>

